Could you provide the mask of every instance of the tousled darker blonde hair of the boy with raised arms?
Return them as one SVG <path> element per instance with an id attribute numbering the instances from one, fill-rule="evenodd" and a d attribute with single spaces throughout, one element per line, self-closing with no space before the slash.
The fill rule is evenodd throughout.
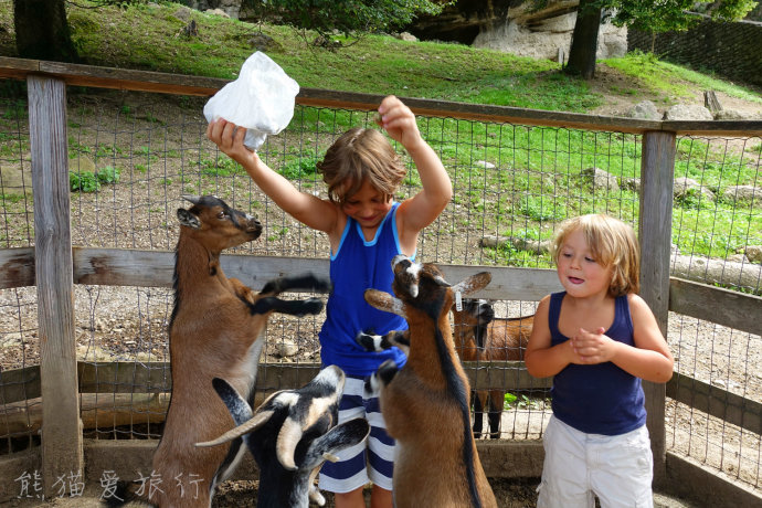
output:
<path id="1" fill-rule="evenodd" d="M 343 204 L 368 179 L 387 201 L 402 183 L 406 169 L 394 148 L 375 129 L 356 127 L 342 134 L 317 165 L 328 186 L 328 199 Z"/>

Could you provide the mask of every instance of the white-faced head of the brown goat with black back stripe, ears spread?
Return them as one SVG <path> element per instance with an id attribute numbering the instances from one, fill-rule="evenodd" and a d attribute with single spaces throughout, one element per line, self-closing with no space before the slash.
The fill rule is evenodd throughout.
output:
<path id="1" fill-rule="evenodd" d="M 371 306 L 408 317 L 405 306 L 412 306 L 436 319 L 443 309 L 449 309 L 456 295 L 469 295 L 484 288 L 491 281 L 489 272 L 480 272 L 452 285 L 444 278 L 442 271 L 433 263 L 414 263 L 405 255 L 392 260 L 394 295 L 377 289 L 366 290 L 366 301 Z"/>

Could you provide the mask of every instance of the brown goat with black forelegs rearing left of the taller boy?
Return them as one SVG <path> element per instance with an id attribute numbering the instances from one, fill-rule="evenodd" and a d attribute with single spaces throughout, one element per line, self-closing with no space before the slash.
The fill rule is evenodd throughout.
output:
<path id="1" fill-rule="evenodd" d="M 160 484 L 144 497 L 159 507 L 208 508 L 215 486 L 230 477 L 244 452 L 241 440 L 230 446 L 194 446 L 232 424 L 212 380 L 224 378 L 248 398 L 264 343 L 260 335 L 269 314 L 303 316 L 322 310 L 318 298 L 282 300 L 276 295 L 297 288 L 328 292 L 330 282 L 311 274 L 284 277 L 268 282 L 256 294 L 241 281 L 227 278 L 220 265 L 221 251 L 256 240 L 262 224 L 214 195 L 182 198 L 192 207 L 177 211 L 180 235 L 169 322 L 172 395 L 154 453 L 151 477 Z M 186 488 L 192 494 L 186 494 Z M 136 496 L 129 490 L 123 499 Z"/>

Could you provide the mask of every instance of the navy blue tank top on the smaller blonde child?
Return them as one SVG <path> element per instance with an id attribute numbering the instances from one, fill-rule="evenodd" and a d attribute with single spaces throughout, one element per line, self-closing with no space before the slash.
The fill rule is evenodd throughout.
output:
<path id="1" fill-rule="evenodd" d="M 569 340 L 558 327 L 564 295 L 565 292 L 553 293 L 550 297 L 548 325 L 551 346 Z M 605 335 L 634 346 L 633 320 L 626 295 L 616 298 L 614 322 Z M 612 362 L 567 366 L 553 377 L 551 395 L 555 417 L 588 434 L 621 435 L 646 423 L 641 379 Z"/>

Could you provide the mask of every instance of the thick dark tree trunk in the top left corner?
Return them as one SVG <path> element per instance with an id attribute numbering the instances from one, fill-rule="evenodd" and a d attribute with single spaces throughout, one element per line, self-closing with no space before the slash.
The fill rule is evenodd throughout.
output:
<path id="1" fill-rule="evenodd" d="M 22 59 L 76 62 L 64 0 L 13 0 L 15 47 Z"/>

